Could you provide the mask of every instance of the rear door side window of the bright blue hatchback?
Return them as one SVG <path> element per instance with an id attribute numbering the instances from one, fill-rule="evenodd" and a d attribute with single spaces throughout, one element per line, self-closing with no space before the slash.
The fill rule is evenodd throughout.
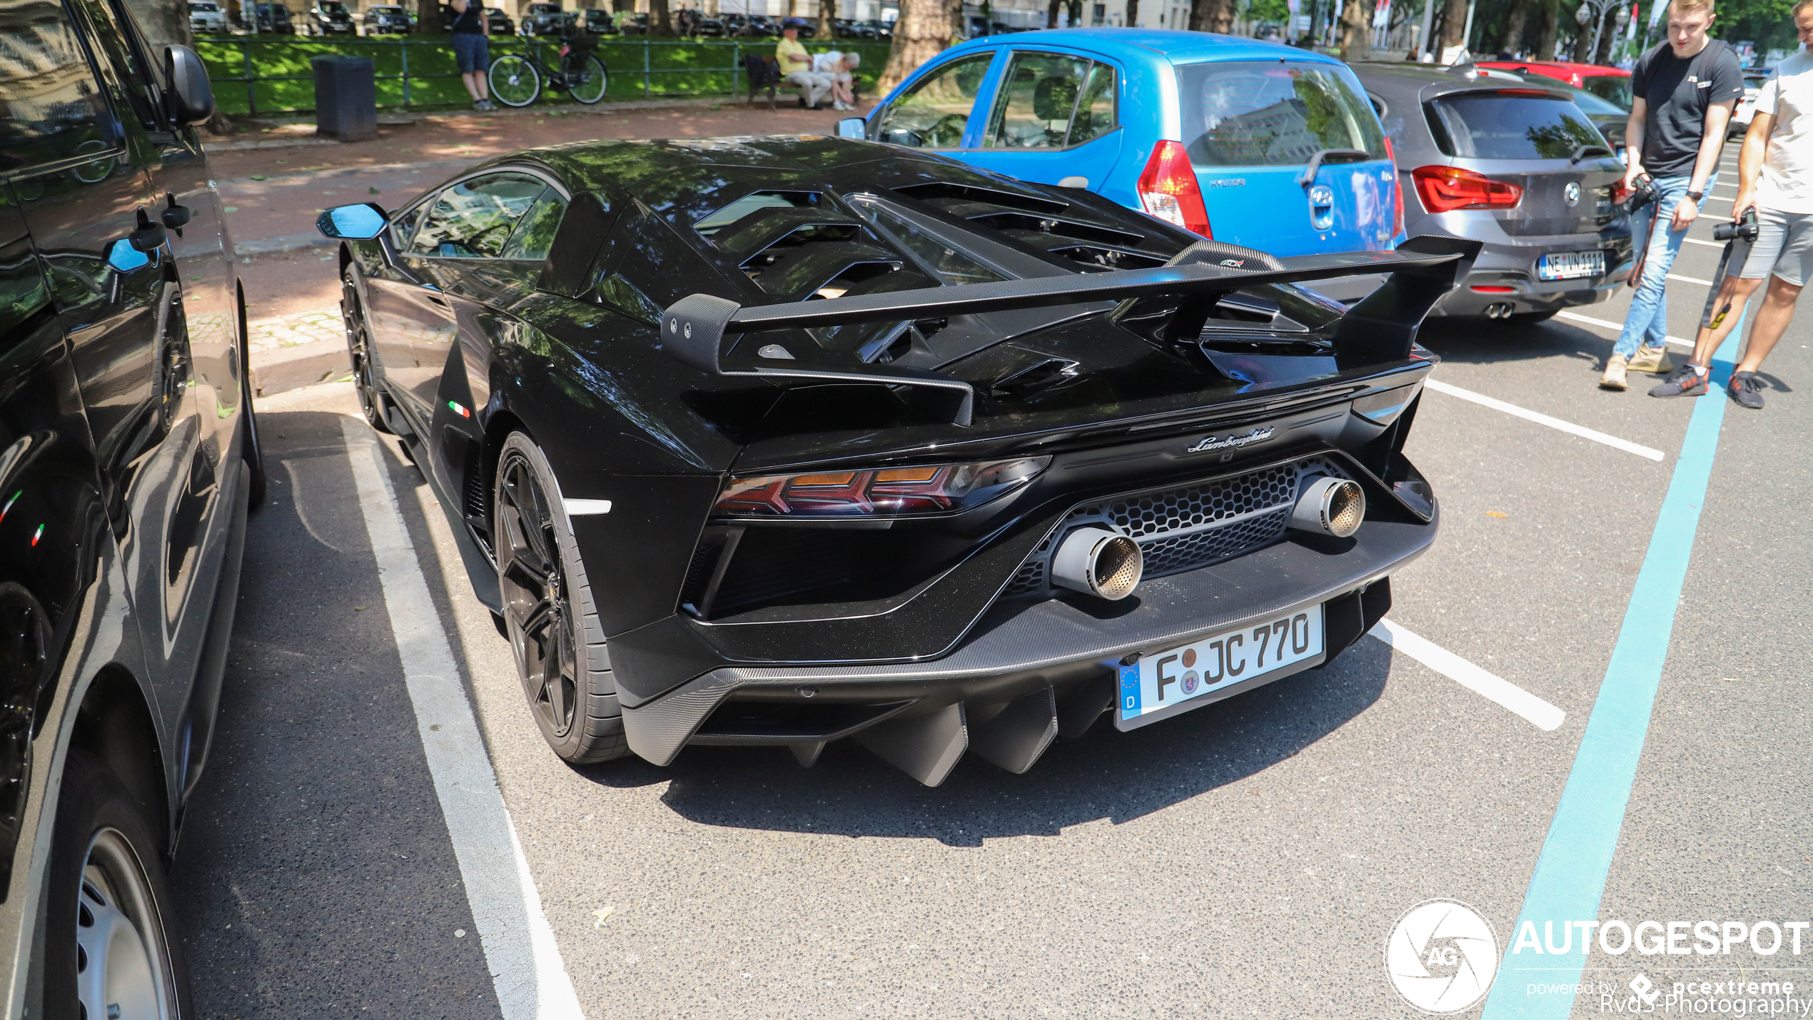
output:
<path id="1" fill-rule="evenodd" d="M 1068 149 L 1113 129 L 1113 67 L 1057 53 L 1015 53 L 983 143 Z"/>

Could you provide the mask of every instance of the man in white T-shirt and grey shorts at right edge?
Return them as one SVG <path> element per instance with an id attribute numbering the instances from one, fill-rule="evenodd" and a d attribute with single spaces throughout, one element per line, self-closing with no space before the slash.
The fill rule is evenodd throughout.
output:
<path id="1" fill-rule="evenodd" d="M 1813 45 L 1813 0 L 1800 0 L 1793 11 L 1802 43 Z M 1769 279 L 1762 308 L 1750 326 L 1750 342 L 1731 373 L 1731 399 L 1746 408 L 1762 408 L 1762 382 L 1757 370 L 1782 339 L 1795 317 L 1800 288 L 1813 277 L 1813 53 L 1800 51 L 1784 60 L 1775 76 L 1757 94 L 1757 116 L 1744 134 L 1737 158 L 1737 201 L 1731 219 L 1757 210 L 1757 243 L 1735 283 L 1733 308 Z M 1760 179 L 1759 179 L 1760 178 Z M 1771 275 L 1773 270 L 1773 275 Z M 1708 390 L 1711 355 L 1737 326 L 1728 313 L 1713 330 L 1701 330 L 1693 357 L 1650 390 L 1650 397 L 1699 397 Z"/>

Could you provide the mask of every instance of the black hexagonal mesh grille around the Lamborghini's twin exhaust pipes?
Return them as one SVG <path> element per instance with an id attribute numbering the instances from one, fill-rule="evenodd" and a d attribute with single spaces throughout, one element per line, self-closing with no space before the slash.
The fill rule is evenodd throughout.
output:
<path id="1" fill-rule="evenodd" d="M 1284 536 L 1291 504 L 1305 475 L 1347 478 L 1347 471 L 1333 460 L 1307 457 L 1246 475 L 1082 504 L 1021 563 L 1004 594 L 1048 592 L 1046 562 L 1053 544 L 1084 522 L 1106 524 L 1139 542 L 1148 578 L 1180 574 L 1251 553 Z"/>

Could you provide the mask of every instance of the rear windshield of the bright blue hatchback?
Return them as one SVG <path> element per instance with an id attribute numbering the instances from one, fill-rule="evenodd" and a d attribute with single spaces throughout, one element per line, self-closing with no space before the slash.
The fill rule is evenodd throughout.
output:
<path id="1" fill-rule="evenodd" d="M 1323 63 L 1188 63 L 1177 69 L 1189 158 L 1209 167 L 1302 167 L 1322 149 L 1385 158 L 1378 114 Z"/>

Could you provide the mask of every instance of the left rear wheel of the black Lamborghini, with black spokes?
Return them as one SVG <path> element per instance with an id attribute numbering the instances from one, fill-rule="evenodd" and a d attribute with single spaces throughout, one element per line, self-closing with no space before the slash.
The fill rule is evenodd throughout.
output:
<path id="1" fill-rule="evenodd" d="M 611 656 L 560 486 L 540 447 L 511 433 L 491 487 L 504 632 L 548 746 L 586 765 L 629 754 Z"/>

